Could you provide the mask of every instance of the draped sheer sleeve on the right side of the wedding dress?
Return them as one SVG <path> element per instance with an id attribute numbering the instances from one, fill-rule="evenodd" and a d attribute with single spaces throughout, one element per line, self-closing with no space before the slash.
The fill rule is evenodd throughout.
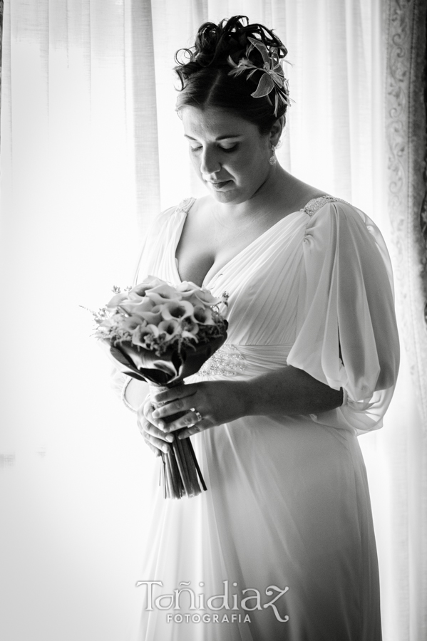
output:
<path id="1" fill-rule="evenodd" d="M 391 263 L 376 224 L 347 203 L 326 204 L 307 225 L 287 363 L 344 390 L 341 407 L 315 421 L 356 434 L 382 426 L 399 364 Z"/>

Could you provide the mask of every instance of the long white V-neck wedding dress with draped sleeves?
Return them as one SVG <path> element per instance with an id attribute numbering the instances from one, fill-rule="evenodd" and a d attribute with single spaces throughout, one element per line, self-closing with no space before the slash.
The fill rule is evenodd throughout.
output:
<path id="1" fill-rule="evenodd" d="M 138 281 L 152 274 L 180 282 L 175 249 L 193 202 L 155 221 Z M 343 387 L 344 403 L 319 415 L 245 417 L 195 435 L 207 484 L 196 498 L 165 500 L 153 479 L 142 580 L 158 583 L 138 588 L 135 638 L 380 641 L 376 546 L 357 441 L 381 427 L 398 370 L 391 267 L 379 229 L 344 201 L 314 199 L 203 285 L 230 296 L 228 338 L 192 380 L 244 380 L 288 364 Z M 168 597 L 183 588 L 195 603 L 189 591 L 178 603 Z"/>

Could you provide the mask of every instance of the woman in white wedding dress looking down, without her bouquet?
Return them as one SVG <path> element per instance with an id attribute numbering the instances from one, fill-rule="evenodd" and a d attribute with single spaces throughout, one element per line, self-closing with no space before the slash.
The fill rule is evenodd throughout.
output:
<path id="1" fill-rule="evenodd" d="M 202 25 L 176 68 L 208 193 L 160 214 L 137 281 L 226 291 L 229 330 L 198 375 L 138 410 L 157 454 L 176 429 L 195 435 L 208 486 L 181 501 L 153 486 L 141 640 L 381 640 L 356 436 L 381 427 L 396 380 L 391 269 L 371 219 L 277 162 L 286 53 L 235 16 Z"/>

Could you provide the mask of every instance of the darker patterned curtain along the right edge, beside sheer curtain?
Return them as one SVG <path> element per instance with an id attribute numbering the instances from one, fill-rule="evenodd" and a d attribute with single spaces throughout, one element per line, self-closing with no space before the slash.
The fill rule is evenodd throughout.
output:
<path id="1" fill-rule="evenodd" d="M 427 429 L 425 0 L 387 3 L 387 142 L 397 308 Z"/>

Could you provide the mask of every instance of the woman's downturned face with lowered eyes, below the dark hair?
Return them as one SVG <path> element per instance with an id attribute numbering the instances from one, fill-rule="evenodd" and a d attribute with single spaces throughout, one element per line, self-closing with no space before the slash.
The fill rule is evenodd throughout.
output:
<path id="1" fill-rule="evenodd" d="M 240 203 L 267 180 L 272 166 L 269 135 L 219 108 L 181 109 L 192 165 L 218 202 Z"/>

